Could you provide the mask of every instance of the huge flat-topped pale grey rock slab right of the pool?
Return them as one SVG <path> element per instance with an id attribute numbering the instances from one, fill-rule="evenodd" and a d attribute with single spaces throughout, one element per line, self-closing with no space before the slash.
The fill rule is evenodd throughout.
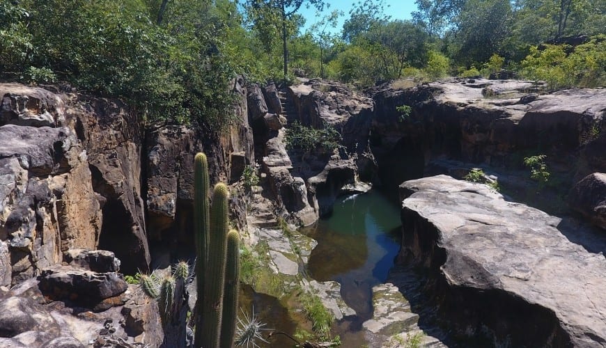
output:
<path id="1" fill-rule="evenodd" d="M 459 299 L 485 300 L 465 304 L 485 313 L 467 315 L 482 318 L 497 338 L 514 346 L 606 347 L 605 248 L 580 245 L 603 243 L 592 230 L 585 238 L 582 226 L 446 175 L 407 181 L 401 197 L 399 260 L 437 270 Z M 498 313 L 521 322 L 499 322 Z"/>

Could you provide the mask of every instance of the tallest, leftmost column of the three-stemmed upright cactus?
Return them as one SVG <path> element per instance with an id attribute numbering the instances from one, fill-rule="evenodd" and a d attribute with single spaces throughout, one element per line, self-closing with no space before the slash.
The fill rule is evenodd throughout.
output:
<path id="1" fill-rule="evenodd" d="M 208 160 L 206 155 L 199 152 L 194 157 L 194 238 L 196 240 L 196 288 L 198 290 L 198 299 L 196 301 L 196 308 L 194 312 L 196 333 L 194 336 L 194 342 L 196 347 L 202 346 L 202 319 L 203 319 L 203 308 L 204 303 L 204 274 L 207 269 L 208 260 L 208 235 L 210 219 L 208 218 Z"/>

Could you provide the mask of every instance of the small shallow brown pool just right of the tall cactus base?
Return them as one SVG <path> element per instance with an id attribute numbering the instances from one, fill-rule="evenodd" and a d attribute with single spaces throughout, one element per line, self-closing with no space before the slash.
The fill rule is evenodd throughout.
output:
<path id="1" fill-rule="evenodd" d="M 250 285 L 241 285 L 239 304 L 244 313 L 249 316 L 254 308 L 254 314 L 260 322 L 265 324 L 263 327 L 267 329 L 267 332 L 263 333 L 263 338 L 267 339 L 272 331 L 283 331 L 289 335 L 295 334 L 297 323 L 290 318 L 288 310 L 274 296 L 255 292 Z M 241 316 L 242 313 L 238 315 Z M 268 341 L 269 344 L 257 340 L 256 344 L 259 347 L 293 346 L 293 341 L 283 335 L 274 335 Z"/>

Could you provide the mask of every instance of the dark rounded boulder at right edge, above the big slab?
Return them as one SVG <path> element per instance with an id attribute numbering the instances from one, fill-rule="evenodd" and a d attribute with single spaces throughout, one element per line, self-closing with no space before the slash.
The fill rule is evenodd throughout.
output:
<path id="1" fill-rule="evenodd" d="M 577 182 L 568 193 L 568 204 L 606 230 L 606 174 L 593 173 Z"/>

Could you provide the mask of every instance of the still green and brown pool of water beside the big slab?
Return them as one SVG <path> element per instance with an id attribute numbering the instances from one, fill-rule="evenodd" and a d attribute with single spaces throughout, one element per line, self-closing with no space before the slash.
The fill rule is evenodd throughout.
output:
<path id="1" fill-rule="evenodd" d="M 400 226 L 398 209 L 380 193 L 337 200 L 332 216 L 311 232 L 318 240 L 309 260 L 311 276 L 341 283 L 345 302 L 360 317 L 370 317 L 372 287 L 387 279 L 394 264 Z"/>

